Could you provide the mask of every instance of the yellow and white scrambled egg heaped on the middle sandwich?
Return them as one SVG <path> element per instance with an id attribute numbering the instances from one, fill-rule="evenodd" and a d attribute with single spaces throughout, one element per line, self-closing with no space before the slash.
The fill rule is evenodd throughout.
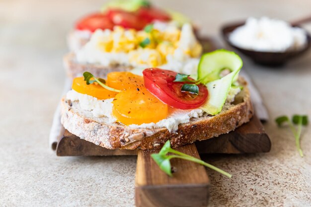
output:
<path id="1" fill-rule="evenodd" d="M 112 31 L 96 30 L 95 34 L 97 32 L 102 33 L 95 40 L 100 51 L 127 53 L 130 63 L 136 66 L 160 66 L 167 63 L 167 56 L 176 53 L 191 58 L 198 58 L 202 53 L 202 46 L 195 38 L 190 24 L 184 24 L 181 29 L 168 26 L 161 31 L 155 28 L 149 32 L 136 31 L 115 26 Z"/>

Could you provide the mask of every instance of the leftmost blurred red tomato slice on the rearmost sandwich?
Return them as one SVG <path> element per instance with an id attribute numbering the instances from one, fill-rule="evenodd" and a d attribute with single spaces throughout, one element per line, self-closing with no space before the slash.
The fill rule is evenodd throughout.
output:
<path id="1" fill-rule="evenodd" d="M 76 29 L 94 32 L 96 29 L 112 29 L 113 26 L 113 22 L 105 14 L 94 13 L 80 19 Z"/>

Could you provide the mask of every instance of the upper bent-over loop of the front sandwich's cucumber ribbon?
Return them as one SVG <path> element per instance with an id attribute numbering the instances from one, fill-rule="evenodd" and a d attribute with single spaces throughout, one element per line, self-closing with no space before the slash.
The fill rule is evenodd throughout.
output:
<path id="1" fill-rule="evenodd" d="M 236 53 L 225 49 L 215 50 L 201 57 L 198 66 L 198 79 L 203 83 L 208 83 L 219 79 L 223 69 L 235 71 L 241 69 L 242 65 L 243 62 Z M 233 77 L 233 81 L 236 81 L 237 77 L 238 74 Z"/>

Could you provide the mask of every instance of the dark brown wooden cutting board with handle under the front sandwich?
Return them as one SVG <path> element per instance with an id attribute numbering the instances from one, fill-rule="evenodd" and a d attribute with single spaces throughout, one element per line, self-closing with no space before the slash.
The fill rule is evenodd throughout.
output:
<path id="1" fill-rule="evenodd" d="M 151 158 L 159 150 L 111 150 L 80 139 L 63 129 L 56 154 L 58 156 L 138 155 L 135 179 L 137 207 L 206 207 L 210 180 L 202 165 L 172 159 L 173 177 L 167 176 Z M 176 150 L 200 158 L 199 153 L 269 152 L 271 142 L 259 119 L 218 138 L 197 141 Z"/>

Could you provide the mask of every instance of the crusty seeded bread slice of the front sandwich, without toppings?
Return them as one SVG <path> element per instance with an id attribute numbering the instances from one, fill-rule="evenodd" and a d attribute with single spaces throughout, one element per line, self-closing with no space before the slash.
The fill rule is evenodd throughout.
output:
<path id="1" fill-rule="evenodd" d="M 253 107 L 247 83 L 242 78 L 239 78 L 239 83 L 243 89 L 233 103 L 224 105 L 220 114 L 191 118 L 173 133 L 166 128 L 133 129 L 119 123 L 109 124 L 108 118 L 93 117 L 91 112 L 79 107 L 78 101 L 71 102 L 65 98 L 62 99 L 61 122 L 70 133 L 108 149 L 156 149 L 168 139 L 172 147 L 178 147 L 229 133 L 250 120 Z"/>

